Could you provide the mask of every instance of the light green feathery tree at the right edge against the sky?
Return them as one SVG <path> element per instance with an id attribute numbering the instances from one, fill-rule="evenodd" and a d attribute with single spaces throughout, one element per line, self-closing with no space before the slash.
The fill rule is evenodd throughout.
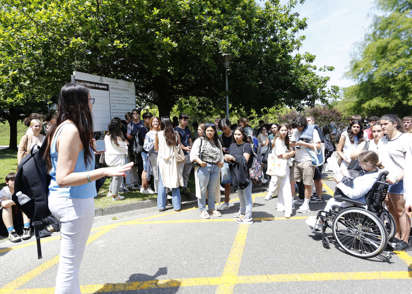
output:
<path id="1" fill-rule="evenodd" d="M 352 54 L 343 89 L 347 114 L 412 114 L 412 1 L 376 0 L 384 15 L 373 16 Z"/>

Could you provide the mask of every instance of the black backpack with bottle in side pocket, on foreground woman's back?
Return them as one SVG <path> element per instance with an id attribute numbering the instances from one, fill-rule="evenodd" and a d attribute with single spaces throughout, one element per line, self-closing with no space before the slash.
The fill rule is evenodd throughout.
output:
<path id="1" fill-rule="evenodd" d="M 34 226 L 38 259 L 42 258 L 39 228 L 42 219 L 51 215 L 47 205 L 51 177 L 47 174 L 46 162 L 43 160 L 46 147 L 46 142 L 40 149 L 37 145 L 33 146 L 31 152 L 20 161 L 12 195 L 14 203 L 30 218 Z"/>

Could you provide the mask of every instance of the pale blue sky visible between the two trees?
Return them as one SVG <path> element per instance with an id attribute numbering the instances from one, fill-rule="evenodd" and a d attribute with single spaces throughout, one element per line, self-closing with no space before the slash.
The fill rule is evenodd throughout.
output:
<path id="1" fill-rule="evenodd" d="M 261 6 L 266 1 L 259 1 Z M 287 0 L 281 0 L 286 4 Z M 297 11 L 299 18 L 307 18 L 307 28 L 299 31 L 306 39 L 300 53 L 316 55 L 314 64 L 334 66 L 332 72 L 319 72 L 330 77 L 328 86 L 346 87 L 354 82 L 343 77 L 348 69 L 350 51 L 356 42 L 363 40 L 365 30 L 372 22 L 368 14 L 382 14 L 375 10 L 372 0 L 306 0 L 297 4 L 291 12 Z"/>

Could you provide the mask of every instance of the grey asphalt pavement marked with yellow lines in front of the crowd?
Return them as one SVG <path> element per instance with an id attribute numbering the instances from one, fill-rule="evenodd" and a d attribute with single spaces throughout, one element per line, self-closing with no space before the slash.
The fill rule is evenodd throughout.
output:
<path id="1" fill-rule="evenodd" d="M 331 173 L 323 184 L 328 200 Z M 253 190 L 251 225 L 231 219 L 239 210 L 236 194 L 222 217 L 211 219 L 200 217 L 194 201 L 180 212 L 169 205 L 95 217 L 80 268 L 82 293 L 411 293 L 411 252 L 359 259 L 343 252 L 330 230 L 325 249 L 321 234 L 305 224 L 325 201 L 286 219 L 276 211 L 277 198 L 264 200 L 264 190 Z M 59 238 L 42 239 L 40 260 L 34 237 L 1 240 L 0 293 L 54 293 Z"/>

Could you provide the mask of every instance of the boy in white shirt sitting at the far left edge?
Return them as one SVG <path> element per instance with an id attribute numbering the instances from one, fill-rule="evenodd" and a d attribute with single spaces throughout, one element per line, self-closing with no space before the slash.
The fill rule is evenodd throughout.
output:
<path id="1" fill-rule="evenodd" d="M 10 242 L 19 242 L 21 239 L 27 240 L 31 237 L 31 229 L 30 229 L 30 219 L 25 215 L 23 212 L 23 222 L 24 222 L 24 229 L 23 229 L 23 236 L 21 238 L 17 235 L 16 231 L 14 230 L 13 226 L 13 209 L 12 206 L 16 205 L 12 200 L 12 194 L 14 193 L 14 178 L 16 177 L 15 173 L 9 173 L 6 175 L 6 184 L 7 186 L 3 187 L 0 190 L 0 212 L 2 215 L 3 222 L 7 228 L 7 232 L 9 233 L 9 240 Z"/>

